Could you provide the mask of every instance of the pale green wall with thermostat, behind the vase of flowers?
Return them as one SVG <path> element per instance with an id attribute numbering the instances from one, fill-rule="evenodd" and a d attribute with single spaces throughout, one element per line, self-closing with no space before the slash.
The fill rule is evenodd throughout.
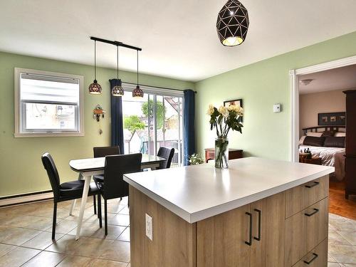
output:
<path id="1" fill-rule="evenodd" d="M 276 43 L 278 46 L 278 43 Z M 239 47 L 232 48 L 239 49 Z M 290 88 L 289 70 L 356 55 L 356 31 L 281 56 L 268 58 L 221 75 L 201 80 L 197 93 L 197 151 L 214 147 L 214 131 L 209 129 L 208 105 L 219 107 L 224 100 L 244 100 L 244 128 L 230 132 L 229 147 L 241 148 L 245 155 L 289 159 Z M 281 113 L 273 104 L 281 103 Z"/>

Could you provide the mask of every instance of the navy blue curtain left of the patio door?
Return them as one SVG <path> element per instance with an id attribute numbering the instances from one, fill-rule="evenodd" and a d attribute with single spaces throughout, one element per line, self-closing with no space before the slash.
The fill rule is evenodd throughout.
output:
<path id="1" fill-rule="evenodd" d="M 112 96 L 111 89 L 116 85 L 121 85 L 121 80 L 111 79 L 110 98 L 111 98 L 111 145 L 120 147 L 121 154 L 124 154 L 124 129 L 122 124 L 122 97 Z"/>

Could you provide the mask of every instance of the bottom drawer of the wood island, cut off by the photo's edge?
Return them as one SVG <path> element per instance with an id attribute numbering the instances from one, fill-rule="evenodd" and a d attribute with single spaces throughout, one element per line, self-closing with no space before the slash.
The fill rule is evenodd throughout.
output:
<path id="1" fill-rule="evenodd" d="M 324 239 L 293 267 L 325 267 L 328 265 L 328 239 Z"/>

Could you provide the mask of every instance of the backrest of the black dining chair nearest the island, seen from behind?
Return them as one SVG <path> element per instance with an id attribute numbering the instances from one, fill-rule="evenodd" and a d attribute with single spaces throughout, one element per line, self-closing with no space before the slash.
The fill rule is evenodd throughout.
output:
<path id="1" fill-rule="evenodd" d="M 141 171 L 142 154 L 110 155 L 105 157 L 103 197 L 116 199 L 129 195 L 129 185 L 123 174 Z"/>

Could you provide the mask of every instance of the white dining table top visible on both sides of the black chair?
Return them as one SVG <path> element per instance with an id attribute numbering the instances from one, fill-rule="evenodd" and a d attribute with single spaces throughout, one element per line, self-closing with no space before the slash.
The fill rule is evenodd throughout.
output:
<path id="1" fill-rule="evenodd" d="M 141 164 L 164 162 L 166 159 L 155 155 L 142 154 Z M 104 169 L 105 157 L 90 157 L 88 159 L 72 159 L 69 162 L 70 169 L 75 172 L 89 172 Z"/>

